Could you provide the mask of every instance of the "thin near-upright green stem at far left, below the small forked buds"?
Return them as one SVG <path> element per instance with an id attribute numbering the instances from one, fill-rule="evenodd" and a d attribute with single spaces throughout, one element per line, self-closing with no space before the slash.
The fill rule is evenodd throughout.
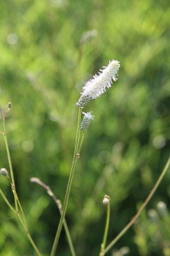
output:
<path id="1" fill-rule="evenodd" d="M 7 138 L 6 138 L 6 131 L 5 131 L 4 122 L 5 122 L 5 120 L 3 118 L 3 129 L 4 129 L 3 138 L 4 138 L 4 144 L 5 144 L 5 147 L 6 147 L 6 153 L 7 153 L 7 156 L 8 156 L 8 163 L 9 163 L 9 166 L 10 166 L 11 181 L 12 181 L 12 184 L 13 184 L 13 189 L 15 189 L 15 180 L 14 180 L 14 176 L 13 176 L 13 168 L 12 168 L 12 164 L 11 164 L 10 150 L 9 150 L 8 141 L 7 141 Z M 15 200 L 15 209 L 16 209 L 16 211 L 18 211 L 18 204 L 17 204 L 17 200 L 16 200 L 15 196 L 14 196 L 14 200 Z"/>

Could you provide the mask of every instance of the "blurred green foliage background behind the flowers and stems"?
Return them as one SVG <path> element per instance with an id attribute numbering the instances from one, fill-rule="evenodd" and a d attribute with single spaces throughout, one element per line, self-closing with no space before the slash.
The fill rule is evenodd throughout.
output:
<path id="1" fill-rule="evenodd" d="M 110 60 L 118 81 L 83 111 L 92 121 L 76 166 L 66 219 L 77 255 L 99 255 L 111 198 L 108 243 L 136 214 L 169 157 L 170 4 L 167 0 L 2 0 L 0 103 L 29 230 L 50 255 L 59 211 L 31 177 L 64 200 L 81 87 Z M 3 126 L 1 124 L 1 131 Z M 3 136 L 1 168 L 8 167 Z M 136 224 L 107 253 L 170 255 L 170 172 Z M 0 187 L 11 203 L 8 180 Z M 157 209 L 158 202 L 167 211 Z M 1 256 L 36 255 L 0 198 Z M 71 255 L 64 230 L 57 255 Z"/>

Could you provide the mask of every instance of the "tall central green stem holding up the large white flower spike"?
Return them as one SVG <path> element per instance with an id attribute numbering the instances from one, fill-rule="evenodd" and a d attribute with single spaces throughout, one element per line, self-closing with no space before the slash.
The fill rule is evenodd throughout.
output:
<path id="1" fill-rule="evenodd" d="M 55 239 L 53 242 L 53 246 L 52 246 L 52 252 L 51 252 L 51 256 L 55 255 L 55 251 L 57 249 L 57 244 L 59 242 L 59 237 L 60 237 L 60 232 L 62 229 L 62 224 L 66 215 L 66 209 L 67 209 L 67 203 L 68 203 L 68 199 L 69 199 L 69 192 L 71 189 L 71 184 L 73 181 L 73 175 L 74 175 L 74 170 L 75 170 L 75 166 L 76 166 L 76 161 L 78 158 L 78 144 L 79 144 L 79 140 L 80 140 L 80 123 L 81 123 L 81 109 L 79 108 L 78 111 L 78 125 L 77 125 L 77 131 L 76 131 L 76 143 L 75 143 L 75 148 L 74 148 L 74 157 L 73 157 L 73 163 L 71 166 L 71 171 L 69 173 L 69 180 L 67 183 L 67 189 L 66 189 L 66 195 L 64 198 L 64 204 L 63 204 L 63 209 L 62 209 L 62 215 L 60 217 L 60 221 L 59 221 L 59 226 L 57 228 L 57 233 L 55 235 Z"/>

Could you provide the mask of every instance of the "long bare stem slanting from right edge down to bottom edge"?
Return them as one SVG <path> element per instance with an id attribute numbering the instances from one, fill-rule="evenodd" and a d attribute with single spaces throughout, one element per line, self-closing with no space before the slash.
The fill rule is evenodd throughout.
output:
<path id="1" fill-rule="evenodd" d="M 166 166 L 164 167 L 164 170 L 162 170 L 162 173 L 159 176 L 159 179 L 157 179 L 157 182 L 155 183 L 155 185 L 153 186 L 152 191 L 150 192 L 150 194 L 148 195 L 148 197 L 146 198 L 145 202 L 143 203 L 143 205 L 141 206 L 141 208 L 139 209 L 139 211 L 136 213 L 136 215 L 132 218 L 132 220 L 124 227 L 124 229 L 118 234 L 117 237 L 115 237 L 115 239 L 113 239 L 113 241 L 111 241 L 110 244 L 108 244 L 108 246 L 106 246 L 106 249 L 104 250 L 104 255 L 106 254 L 106 252 L 108 252 L 111 247 L 117 243 L 117 241 L 120 239 L 120 237 L 122 237 L 125 232 L 127 232 L 127 230 L 129 230 L 129 228 L 134 224 L 134 222 L 138 219 L 139 215 L 141 214 L 141 212 L 143 211 L 143 209 L 145 209 L 146 205 L 148 204 L 148 202 L 150 201 L 150 199 L 152 198 L 153 194 L 155 193 L 155 191 L 157 190 L 157 188 L 159 187 L 160 182 L 162 181 L 162 179 L 164 178 L 164 175 L 166 174 L 168 168 L 170 165 L 170 157 L 167 160 Z"/>

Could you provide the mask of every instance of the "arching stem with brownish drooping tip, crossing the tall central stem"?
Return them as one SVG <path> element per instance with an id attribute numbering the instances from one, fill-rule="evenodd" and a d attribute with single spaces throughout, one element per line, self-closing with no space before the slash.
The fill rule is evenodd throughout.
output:
<path id="1" fill-rule="evenodd" d="M 35 177 L 31 178 L 31 182 L 35 182 L 35 183 L 39 184 L 40 186 L 42 186 L 43 188 L 46 189 L 46 192 L 48 193 L 48 195 L 52 196 L 55 204 L 57 205 L 57 207 L 59 209 L 59 212 L 60 212 L 60 215 L 62 215 L 62 204 L 61 204 L 60 200 L 57 199 L 57 197 L 53 194 L 52 189 L 49 186 L 47 186 L 44 182 L 42 182 L 41 180 L 39 180 L 38 178 L 35 178 Z M 67 222 L 66 222 L 65 218 L 64 218 L 64 221 L 63 221 L 63 225 L 64 225 L 64 228 L 65 228 L 65 231 L 66 231 L 66 236 L 67 236 L 67 240 L 68 240 L 68 243 L 69 243 L 69 248 L 71 250 L 71 254 L 72 254 L 72 256 L 76 256 L 76 253 L 74 251 L 74 246 L 73 246 L 73 243 L 72 243 L 72 240 L 71 240 L 71 236 L 69 234 L 69 228 L 67 227 Z"/>

